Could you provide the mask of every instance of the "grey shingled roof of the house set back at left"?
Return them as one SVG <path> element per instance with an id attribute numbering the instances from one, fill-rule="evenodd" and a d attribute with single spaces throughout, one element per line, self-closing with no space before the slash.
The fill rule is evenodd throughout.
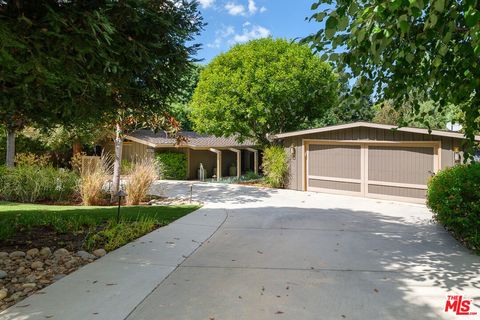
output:
<path id="1" fill-rule="evenodd" d="M 186 141 L 178 143 L 176 137 L 168 135 L 166 132 L 153 132 L 151 130 L 138 130 L 126 136 L 128 140 L 148 145 L 153 148 L 167 147 L 190 147 L 190 148 L 235 148 L 235 147 L 253 147 L 253 141 L 237 142 L 235 137 L 215 137 L 206 134 L 199 134 L 193 131 L 181 131 L 179 136 L 184 137 Z"/>

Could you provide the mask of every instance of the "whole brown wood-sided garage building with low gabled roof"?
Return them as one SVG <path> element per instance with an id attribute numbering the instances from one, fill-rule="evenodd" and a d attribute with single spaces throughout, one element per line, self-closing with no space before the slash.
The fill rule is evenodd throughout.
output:
<path id="1" fill-rule="evenodd" d="M 355 122 L 281 133 L 274 139 L 289 154 L 289 189 L 424 202 L 428 179 L 462 162 L 465 137 Z"/>

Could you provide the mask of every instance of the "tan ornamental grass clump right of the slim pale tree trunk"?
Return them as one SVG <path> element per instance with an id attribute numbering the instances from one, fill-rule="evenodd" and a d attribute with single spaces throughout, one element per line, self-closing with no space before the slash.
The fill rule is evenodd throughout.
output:
<path id="1" fill-rule="evenodd" d="M 127 204 L 139 204 L 146 198 L 148 190 L 157 179 L 158 167 L 155 161 L 143 159 L 134 163 L 125 185 Z"/>

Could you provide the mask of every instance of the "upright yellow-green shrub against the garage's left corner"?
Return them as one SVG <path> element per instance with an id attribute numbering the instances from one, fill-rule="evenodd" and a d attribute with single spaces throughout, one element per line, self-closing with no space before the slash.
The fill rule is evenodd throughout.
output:
<path id="1" fill-rule="evenodd" d="M 288 158 L 281 146 L 270 146 L 263 152 L 265 181 L 273 188 L 283 188 L 288 182 Z"/>

